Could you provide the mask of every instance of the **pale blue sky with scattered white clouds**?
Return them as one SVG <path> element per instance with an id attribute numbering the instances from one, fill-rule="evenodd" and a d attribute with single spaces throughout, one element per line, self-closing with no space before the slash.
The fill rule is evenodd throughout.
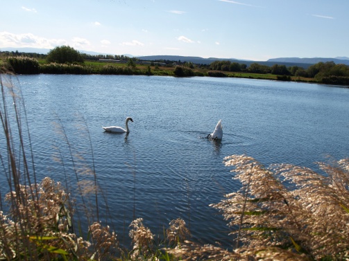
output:
<path id="1" fill-rule="evenodd" d="M 11 0 L 1 3 L 0 50 L 349 57 L 348 10 L 348 0 Z"/>

